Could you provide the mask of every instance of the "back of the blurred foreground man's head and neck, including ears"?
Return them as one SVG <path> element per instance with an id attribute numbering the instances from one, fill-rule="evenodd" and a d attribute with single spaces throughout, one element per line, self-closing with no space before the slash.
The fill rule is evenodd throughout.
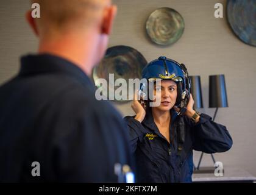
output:
<path id="1" fill-rule="evenodd" d="M 56 54 L 91 73 L 107 48 L 116 15 L 111 0 L 31 0 L 40 5 L 40 18 L 27 12 L 27 21 L 40 38 L 39 53 Z"/>

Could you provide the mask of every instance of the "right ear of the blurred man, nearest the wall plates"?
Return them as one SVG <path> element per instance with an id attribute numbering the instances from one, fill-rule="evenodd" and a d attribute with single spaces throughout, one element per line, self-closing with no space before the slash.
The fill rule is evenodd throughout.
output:
<path id="1" fill-rule="evenodd" d="M 117 13 L 116 5 L 112 5 L 105 10 L 103 23 L 102 23 L 102 34 L 110 35 L 116 13 Z"/>

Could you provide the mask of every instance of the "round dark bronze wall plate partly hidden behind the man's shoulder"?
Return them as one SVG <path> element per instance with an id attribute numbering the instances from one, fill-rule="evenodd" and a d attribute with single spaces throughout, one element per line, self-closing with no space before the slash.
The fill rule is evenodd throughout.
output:
<path id="1" fill-rule="evenodd" d="M 95 85 L 99 86 L 97 82 L 98 78 L 104 78 L 108 82 L 108 99 L 110 95 L 113 96 L 116 89 L 119 86 L 115 86 L 116 79 L 124 79 L 128 85 L 129 79 L 141 79 L 141 72 L 144 66 L 147 65 L 146 59 L 136 49 L 130 48 L 129 46 L 114 46 L 108 48 L 104 59 L 99 63 L 96 68 L 93 69 L 93 79 Z M 114 74 L 114 80 L 110 79 L 109 74 Z M 121 84 L 122 86 L 123 83 Z M 120 85 L 120 86 L 121 86 Z M 104 89 L 107 90 L 107 89 Z M 127 91 L 127 99 L 133 99 L 133 94 L 129 94 Z M 113 99 L 115 101 L 126 101 Z"/>

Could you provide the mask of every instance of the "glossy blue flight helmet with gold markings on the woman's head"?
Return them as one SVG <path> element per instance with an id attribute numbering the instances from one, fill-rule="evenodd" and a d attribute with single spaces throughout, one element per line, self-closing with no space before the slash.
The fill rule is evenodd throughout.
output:
<path id="1" fill-rule="evenodd" d="M 177 83 L 177 99 L 175 105 L 181 108 L 187 106 L 190 98 L 191 81 L 185 65 L 161 56 L 150 62 L 143 69 L 142 78 L 147 81 L 151 79 L 173 80 Z M 141 90 L 143 90 L 143 86 L 141 86 Z"/>

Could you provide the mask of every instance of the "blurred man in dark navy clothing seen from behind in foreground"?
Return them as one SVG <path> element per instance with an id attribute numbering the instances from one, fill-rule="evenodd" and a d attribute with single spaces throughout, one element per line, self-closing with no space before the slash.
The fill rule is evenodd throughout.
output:
<path id="1" fill-rule="evenodd" d="M 96 101 L 89 75 L 107 48 L 110 0 L 37 0 L 36 55 L 0 87 L 0 182 L 118 182 L 131 165 L 121 116 Z M 39 168 L 39 169 L 38 169 Z"/>

